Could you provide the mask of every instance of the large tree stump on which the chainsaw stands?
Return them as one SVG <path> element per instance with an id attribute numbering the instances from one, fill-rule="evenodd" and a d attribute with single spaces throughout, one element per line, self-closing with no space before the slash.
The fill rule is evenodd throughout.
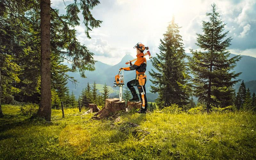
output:
<path id="1" fill-rule="evenodd" d="M 118 111 L 125 110 L 125 101 L 119 101 L 118 98 L 106 99 L 105 106 L 96 113 L 91 119 L 102 119 L 109 116 L 113 116 Z"/>

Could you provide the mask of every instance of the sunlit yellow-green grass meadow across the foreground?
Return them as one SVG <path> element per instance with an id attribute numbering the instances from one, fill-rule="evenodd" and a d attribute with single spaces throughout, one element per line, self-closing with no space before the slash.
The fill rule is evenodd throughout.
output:
<path id="1" fill-rule="evenodd" d="M 25 112 L 19 106 L 2 105 L 2 110 L 0 159 L 4 160 L 256 159 L 256 115 L 246 111 L 146 115 L 130 111 L 114 122 L 90 120 L 93 114 L 65 108 L 65 118 L 61 109 L 52 109 L 48 123 L 30 119 L 33 110 Z"/>

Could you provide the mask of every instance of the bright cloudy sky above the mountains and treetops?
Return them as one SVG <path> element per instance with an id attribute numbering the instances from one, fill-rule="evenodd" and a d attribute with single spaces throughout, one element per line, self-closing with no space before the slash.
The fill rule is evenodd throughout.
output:
<path id="1" fill-rule="evenodd" d="M 78 0 L 79 1 L 79 0 Z M 65 2 L 65 4 L 64 4 Z M 160 39 L 166 32 L 168 22 L 175 16 L 186 52 L 200 50 L 196 33 L 202 34 L 202 21 L 208 21 L 207 12 L 211 4 L 217 5 L 220 19 L 226 24 L 225 32 L 232 36 L 228 50 L 233 54 L 256 57 L 256 1 L 255 0 L 100 0 L 91 11 L 100 28 L 90 32 L 86 38 L 84 24 L 77 26 L 77 39 L 94 53 L 94 59 L 115 65 L 131 54 L 136 57 L 133 46 L 138 42 L 149 47 L 152 56 L 159 52 Z M 51 0 L 51 7 L 65 13 L 65 5 L 73 0 Z M 79 15 L 83 20 L 82 15 Z"/>

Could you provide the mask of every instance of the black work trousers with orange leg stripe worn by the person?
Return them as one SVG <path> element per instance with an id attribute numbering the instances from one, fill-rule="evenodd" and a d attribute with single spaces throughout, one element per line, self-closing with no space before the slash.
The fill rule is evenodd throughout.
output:
<path id="1" fill-rule="evenodd" d="M 133 79 L 131 81 L 129 81 L 127 83 L 127 87 L 130 89 L 130 91 L 132 92 L 132 96 L 134 96 L 135 94 L 137 94 L 134 86 L 137 86 L 138 91 L 140 93 L 140 100 L 141 100 L 141 108 L 147 109 L 148 106 L 148 101 L 147 101 L 147 96 L 146 96 L 146 85 L 147 80 L 145 80 L 145 84 L 144 85 L 140 85 L 139 81 L 136 79 Z"/>

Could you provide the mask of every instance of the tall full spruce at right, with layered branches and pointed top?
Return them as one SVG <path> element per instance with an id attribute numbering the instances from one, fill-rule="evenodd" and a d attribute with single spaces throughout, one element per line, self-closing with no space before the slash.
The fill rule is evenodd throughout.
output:
<path id="1" fill-rule="evenodd" d="M 222 106 L 232 99 L 232 86 L 239 81 L 234 79 L 241 73 L 229 72 L 241 57 L 229 59 L 227 47 L 231 45 L 232 37 L 224 40 L 229 31 L 223 33 L 226 24 L 219 19 L 215 4 L 212 4 L 212 13 L 206 13 L 206 16 L 210 21 L 203 21 L 203 34 L 196 34 L 196 45 L 205 52 L 191 49 L 193 57 L 188 58 L 188 66 L 194 76 L 194 95 L 206 103 L 208 113 L 211 105 Z"/>

